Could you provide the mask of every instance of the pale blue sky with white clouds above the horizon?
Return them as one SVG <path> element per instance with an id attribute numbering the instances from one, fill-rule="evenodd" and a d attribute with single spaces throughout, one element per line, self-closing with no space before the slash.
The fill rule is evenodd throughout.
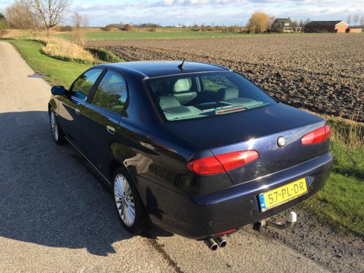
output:
<path id="1" fill-rule="evenodd" d="M 0 0 L 0 10 L 12 3 L 14 1 Z M 349 14 L 364 16 L 364 0 L 73 0 L 70 14 L 78 12 L 87 15 L 93 27 L 120 22 L 156 23 L 161 26 L 231 26 L 246 25 L 256 11 L 297 21 L 310 18 L 346 22 Z M 70 24 L 70 21 L 66 20 L 67 23 Z"/>

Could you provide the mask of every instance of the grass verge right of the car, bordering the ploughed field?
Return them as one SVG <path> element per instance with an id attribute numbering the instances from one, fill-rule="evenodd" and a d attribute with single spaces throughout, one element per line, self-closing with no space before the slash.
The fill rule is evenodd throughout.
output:
<path id="1" fill-rule="evenodd" d="M 337 231 L 364 236 L 364 124 L 325 117 L 333 167 L 323 189 L 301 203 Z"/>

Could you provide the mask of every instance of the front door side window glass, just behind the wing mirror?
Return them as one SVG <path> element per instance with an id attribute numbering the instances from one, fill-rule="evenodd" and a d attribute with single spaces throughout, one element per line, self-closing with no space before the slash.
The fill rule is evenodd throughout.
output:
<path id="1" fill-rule="evenodd" d="M 91 69 L 81 75 L 73 84 L 73 95 L 86 101 L 90 95 L 92 86 L 95 84 L 97 78 L 102 73 L 102 69 Z"/>

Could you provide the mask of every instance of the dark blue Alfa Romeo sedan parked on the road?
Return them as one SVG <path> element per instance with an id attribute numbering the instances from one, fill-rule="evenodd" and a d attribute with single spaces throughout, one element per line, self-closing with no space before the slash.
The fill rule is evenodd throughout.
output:
<path id="1" fill-rule="evenodd" d="M 279 226 L 265 219 L 320 190 L 331 169 L 324 119 L 226 67 L 97 65 L 52 94 L 55 142 L 74 145 L 112 185 L 133 234 L 151 222 L 216 249 L 243 226 Z"/>

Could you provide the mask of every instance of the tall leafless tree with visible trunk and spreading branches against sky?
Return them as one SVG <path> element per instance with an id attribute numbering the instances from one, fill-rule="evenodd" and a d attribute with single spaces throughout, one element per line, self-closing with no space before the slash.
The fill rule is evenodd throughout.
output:
<path id="1" fill-rule="evenodd" d="M 64 20 L 72 0 L 22 0 L 32 14 L 42 20 L 46 29 L 47 37 L 50 30 Z"/>

